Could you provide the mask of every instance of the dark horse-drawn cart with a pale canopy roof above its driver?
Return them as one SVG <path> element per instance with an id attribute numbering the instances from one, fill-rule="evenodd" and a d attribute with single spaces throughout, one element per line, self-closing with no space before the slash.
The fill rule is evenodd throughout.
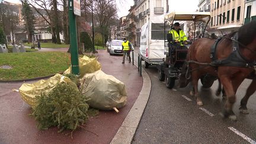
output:
<path id="1" fill-rule="evenodd" d="M 190 44 L 196 39 L 196 30 L 198 31 L 197 33 L 204 34 L 209 20 L 210 12 L 171 12 L 165 15 L 164 31 L 167 31 L 165 30 L 167 25 L 170 25 L 172 28 L 175 22 L 179 22 L 183 25 L 184 29 L 186 29 L 184 30 L 185 33 L 190 32 L 190 34 L 194 34 L 193 40 L 175 43 L 175 41 L 172 40 L 172 34 L 164 33 L 164 53 L 166 57 L 162 59 L 163 63 L 157 65 L 157 68 L 159 81 L 165 80 L 165 84 L 168 88 L 173 88 L 175 80 L 180 77 L 181 68 L 187 57 L 188 47 L 190 47 Z M 192 28 L 194 29 L 194 33 L 191 32 Z M 201 78 L 201 81 L 205 87 L 211 87 L 213 84 L 213 81 L 212 83 L 205 82 L 204 78 Z"/>

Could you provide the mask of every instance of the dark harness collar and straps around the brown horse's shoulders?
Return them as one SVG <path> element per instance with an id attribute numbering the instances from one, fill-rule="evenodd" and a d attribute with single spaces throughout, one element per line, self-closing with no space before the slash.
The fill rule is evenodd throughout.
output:
<path id="1" fill-rule="evenodd" d="M 238 32 L 236 32 L 235 35 L 230 39 L 230 40 L 232 40 L 233 52 L 225 59 L 218 60 L 217 56 L 216 56 L 216 47 L 217 47 L 217 44 L 222 39 L 229 39 L 229 38 L 228 37 L 220 37 L 219 39 L 217 39 L 215 41 L 215 43 L 211 47 L 210 58 L 212 59 L 212 62 L 210 63 L 210 65 L 255 68 L 255 62 L 249 62 L 249 60 L 247 60 L 247 58 L 242 55 L 241 50 L 239 49 L 239 44 L 247 49 L 249 49 L 249 48 L 244 46 L 244 44 L 241 44 L 238 41 Z M 251 49 L 249 49 L 249 50 L 251 50 Z M 251 50 L 251 51 L 254 52 L 253 50 Z"/>

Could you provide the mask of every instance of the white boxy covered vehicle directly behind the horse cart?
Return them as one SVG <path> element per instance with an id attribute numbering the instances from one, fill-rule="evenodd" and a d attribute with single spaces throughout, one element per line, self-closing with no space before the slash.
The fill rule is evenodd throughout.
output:
<path id="1" fill-rule="evenodd" d="M 162 59 L 165 57 L 164 17 L 165 15 L 151 17 L 148 23 L 141 28 L 139 57 L 145 61 L 145 68 L 148 68 L 149 65 L 163 63 Z"/>

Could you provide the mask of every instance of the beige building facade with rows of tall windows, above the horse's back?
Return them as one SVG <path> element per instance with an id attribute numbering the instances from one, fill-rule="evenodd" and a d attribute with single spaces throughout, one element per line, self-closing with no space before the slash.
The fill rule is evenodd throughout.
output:
<path id="1" fill-rule="evenodd" d="M 237 31 L 244 24 L 244 0 L 211 0 L 210 28 L 216 36 Z"/>

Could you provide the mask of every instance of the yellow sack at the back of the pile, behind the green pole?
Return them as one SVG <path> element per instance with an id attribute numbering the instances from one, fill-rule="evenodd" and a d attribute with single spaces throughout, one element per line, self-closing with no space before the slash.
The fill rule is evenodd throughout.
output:
<path id="1" fill-rule="evenodd" d="M 92 73 L 101 69 L 101 64 L 98 62 L 97 57 L 89 58 L 88 56 L 79 57 L 79 78 L 82 78 L 85 73 Z M 71 73 L 71 66 L 63 73 L 69 74 Z"/>

